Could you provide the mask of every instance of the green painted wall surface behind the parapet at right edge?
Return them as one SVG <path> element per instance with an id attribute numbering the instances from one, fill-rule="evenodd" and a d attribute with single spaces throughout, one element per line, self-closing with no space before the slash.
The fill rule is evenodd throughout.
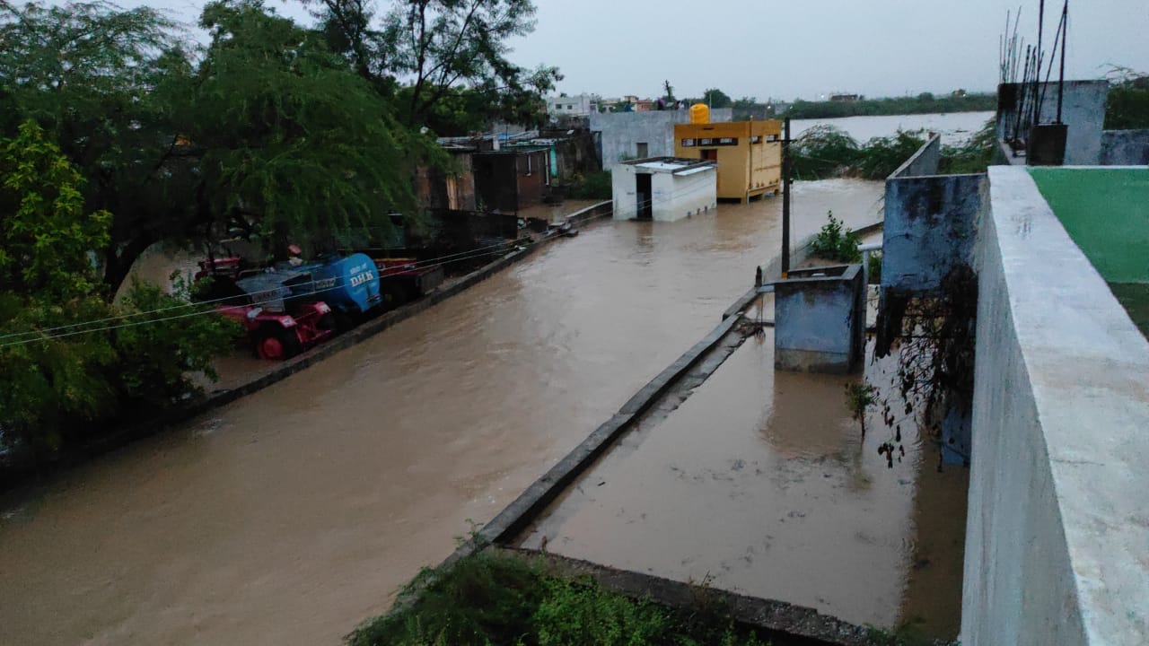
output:
<path id="1" fill-rule="evenodd" d="M 1149 168 L 1033 167 L 1030 175 L 1106 282 L 1149 282 Z"/>

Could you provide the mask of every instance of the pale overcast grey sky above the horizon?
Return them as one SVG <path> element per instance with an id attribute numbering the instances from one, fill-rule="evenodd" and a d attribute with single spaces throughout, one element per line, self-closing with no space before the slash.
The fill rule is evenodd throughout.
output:
<path id="1" fill-rule="evenodd" d="M 381 0 L 385 1 L 385 0 Z M 188 21 L 195 0 L 167 6 Z M 267 0 L 306 20 L 296 1 Z M 606 97 L 679 97 L 719 87 L 789 100 L 828 92 L 871 97 L 992 91 L 1005 11 L 1021 6 L 1020 33 L 1036 39 L 1038 0 L 537 0 L 535 31 L 511 60 L 557 66 L 558 90 Z M 1052 40 L 1062 2 L 1047 0 Z M 1049 45 L 1046 46 L 1047 51 Z M 1108 64 L 1149 72 L 1149 0 L 1071 0 L 1066 75 L 1100 78 Z"/>

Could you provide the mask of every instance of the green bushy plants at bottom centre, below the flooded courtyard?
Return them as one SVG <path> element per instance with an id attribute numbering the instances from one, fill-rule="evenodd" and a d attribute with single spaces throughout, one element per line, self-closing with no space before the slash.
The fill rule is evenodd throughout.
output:
<path id="1" fill-rule="evenodd" d="M 415 590 L 421 592 L 417 598 Z M 350 646 L 765 646 L 718 608 L 677 610 L 603 589 L 591 577 L 484 551 L 449 571 L 424 570 L 400 610 L 361 625 Z"/>

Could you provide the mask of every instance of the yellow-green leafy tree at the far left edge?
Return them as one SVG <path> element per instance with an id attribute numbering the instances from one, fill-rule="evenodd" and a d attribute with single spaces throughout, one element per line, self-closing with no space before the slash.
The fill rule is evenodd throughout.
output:
<path id="1" fill-rule="evenodd" d="M 113 217 L 87 212 L 83 190 L 34 122 L 0 139 L 0 430 L 5 444 L 33 456 L 82 439 L 92 422 L 125 407 L 194 394 L 187 371 L 214 376 L 210 357 L 232 334 L 219 317 L 155 289 L 133 291 L 148 308 L 142 316 L 101 298 L 88 252 L 107 244 Z M 151 312 L 161 307 L 184 316 Z"/>

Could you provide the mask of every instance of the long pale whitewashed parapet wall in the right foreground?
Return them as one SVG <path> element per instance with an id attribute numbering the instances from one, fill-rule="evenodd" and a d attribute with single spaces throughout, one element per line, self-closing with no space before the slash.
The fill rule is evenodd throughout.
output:
<path id="1" fill-rule="evenodd" d="M 962 643 L 1149 644 L 1149 341 L 1025 169 L 989 206 Z"/>

